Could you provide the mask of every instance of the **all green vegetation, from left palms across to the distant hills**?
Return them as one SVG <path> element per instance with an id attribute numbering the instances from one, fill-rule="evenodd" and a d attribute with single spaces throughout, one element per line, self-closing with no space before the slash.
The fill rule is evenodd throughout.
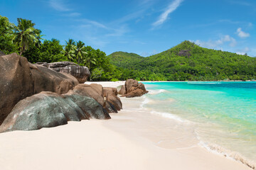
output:
<path id="1" fill-rule="evenodd" d="M 17 52 L 29 62 L 70 61 L 90 69 L 92 81 L 137 80 L 247 80 L 256 78 L 256 58 L 231 52 L 210 50 L 193 42 L 180 45 L 150 57 L 134 53 L 105 52 L 73 39 L 61 45 L 59 40 L 43 40 L 36 24 L 23 18 L 17 26 L 0 16 L 0 50 Z M 41 42 L 43 40 L 43 42 Z"/>

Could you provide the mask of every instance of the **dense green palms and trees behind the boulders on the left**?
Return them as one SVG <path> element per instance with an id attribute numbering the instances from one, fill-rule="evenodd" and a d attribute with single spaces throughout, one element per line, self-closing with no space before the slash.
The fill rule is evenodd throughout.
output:
<path id="1" fill-rule="evenodd" d="M 23 18 L 17 19 L 15 26 L 9 19 L 0 16 L 0 50 L 6 54 L 17 52 L 26 57 L 28 62 L 60 62 L 70 61 L 88 67 L 91 80 L 118 80 L 119 70 L 110 64 L 105 52 L 90 46 L 82 41 L 73 39 L 61 45 L 59 40 L 43 40 L 41 30 L 36 24 Z M 41 42 L 43 40 L 43 42 Z"/>

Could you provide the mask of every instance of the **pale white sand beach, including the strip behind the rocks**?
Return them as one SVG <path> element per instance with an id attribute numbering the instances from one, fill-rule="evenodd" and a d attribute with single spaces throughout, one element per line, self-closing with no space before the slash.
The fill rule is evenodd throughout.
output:
<path id="1" fill-rule="evenodd" d="M 177 131 L 177 122 L 139 109 L 142 97 L 121 99 L 110 120 L 1 133 L 0 169 L 250 169 L 198 145 L 186 124 Z"/>

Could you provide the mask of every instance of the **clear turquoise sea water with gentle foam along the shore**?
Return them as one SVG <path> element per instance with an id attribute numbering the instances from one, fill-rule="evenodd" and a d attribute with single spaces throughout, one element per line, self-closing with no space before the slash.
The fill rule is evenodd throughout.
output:
<path id="1" fill-rule="evenodd" d="M 211 149 L 256 161 L 256 82 L 144 84 L 144 108 L 195 124 L 198 139 Z"/>

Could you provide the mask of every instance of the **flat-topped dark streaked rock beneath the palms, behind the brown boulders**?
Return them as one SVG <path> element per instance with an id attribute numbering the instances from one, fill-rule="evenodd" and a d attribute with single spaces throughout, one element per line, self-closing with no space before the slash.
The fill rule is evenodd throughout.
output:
<path id="1" fill-rule="evenodd" d="M 36 64 L 41 64 L 43 67 L 53 69 L 55 72 L 70 74 L 78 79 L 80 84 L 85 83 L 88 77 L 90 77 L 90 71 L 87 67 L 80 66 L 74 62 L 38 62 Z"/>

